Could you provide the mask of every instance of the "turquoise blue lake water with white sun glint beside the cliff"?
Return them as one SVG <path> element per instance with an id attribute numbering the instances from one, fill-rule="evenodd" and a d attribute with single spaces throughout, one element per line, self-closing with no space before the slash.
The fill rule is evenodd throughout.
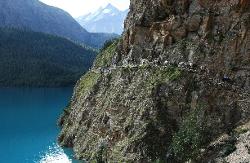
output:
<path id="1" fill-rule="evenodd" d="M 71 163 L 56 143 L 72 88 L 0 88 L 0 163 Z"/>

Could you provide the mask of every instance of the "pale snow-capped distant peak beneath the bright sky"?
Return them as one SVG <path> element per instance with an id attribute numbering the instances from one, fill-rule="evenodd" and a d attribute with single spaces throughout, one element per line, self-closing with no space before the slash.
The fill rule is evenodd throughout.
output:
<path id="1" fill-rule="evenodd" d="M 89 32 L 121 34 L 128 10 L 120 11 L 111 4 L 96 12 L 76 18 L 78 23 Z"/>

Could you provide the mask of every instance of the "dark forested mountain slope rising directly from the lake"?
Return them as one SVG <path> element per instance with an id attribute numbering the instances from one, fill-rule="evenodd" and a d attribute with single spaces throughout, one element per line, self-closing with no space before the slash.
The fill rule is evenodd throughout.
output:
<path id="1" fill-rule="evenodd" d="M 62 37 L 0 28 L 0 87 L 72 86 L 95 56 Z"/>

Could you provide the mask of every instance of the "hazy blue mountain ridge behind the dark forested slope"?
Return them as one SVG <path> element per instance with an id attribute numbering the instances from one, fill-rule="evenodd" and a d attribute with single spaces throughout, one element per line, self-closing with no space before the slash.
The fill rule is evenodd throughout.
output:
<path id="1" fill-rule="evenodd" d="M 116 37 L 89 33 L 67 12 L 39 0 L 0 0 L 0 27 L 54 34 L 94 47 L 101 47 L 106 40 Z"/>

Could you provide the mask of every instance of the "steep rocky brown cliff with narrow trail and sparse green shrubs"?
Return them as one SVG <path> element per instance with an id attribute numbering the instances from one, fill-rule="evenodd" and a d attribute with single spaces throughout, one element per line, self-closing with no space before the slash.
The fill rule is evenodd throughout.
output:
<path id="1" fill-rule="evenodd" d="M 250 118 L 249 6 L 131 0 L 122 39 L 75 87 L 61 145 L 96 161 L 224 159 L 235 141 L 209 143 L 223 133 L 237 140 Z"/>

